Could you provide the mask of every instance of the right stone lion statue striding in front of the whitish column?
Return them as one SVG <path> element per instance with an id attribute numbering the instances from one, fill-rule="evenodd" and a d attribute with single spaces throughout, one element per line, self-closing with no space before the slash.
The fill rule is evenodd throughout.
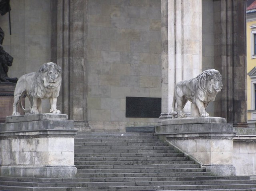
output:
<path id="1" fill-rule="evenodd" d="M 206 70 L 196 78 L 177 83 L 172 102 L 172 115 L 178 115 L 178 118 L 186 117 L 183 108 L 189 100 L 192 102 L 192 117 L 208 117 L 205 109 L 210 101 L 215 100 L 222 86 L 222 75 L 215 69 Z"/>

